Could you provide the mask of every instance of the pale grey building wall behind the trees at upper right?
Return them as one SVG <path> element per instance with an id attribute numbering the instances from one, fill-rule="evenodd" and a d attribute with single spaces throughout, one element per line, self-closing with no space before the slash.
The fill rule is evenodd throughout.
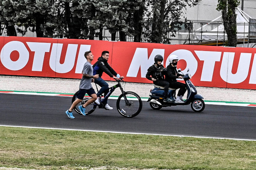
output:
<path id="1" fill-rule="evenodd" d="M 241 0 L 239 8 L 241 9 Z M 194 7 L 187 7 L 185 17 L 188 20 L 211 21 L 221 16 L 221 12 L 216 10 L 218 0 L 201 0 Z M 243 11 L 256 19 L 256 1 L 244 0 Z"/>

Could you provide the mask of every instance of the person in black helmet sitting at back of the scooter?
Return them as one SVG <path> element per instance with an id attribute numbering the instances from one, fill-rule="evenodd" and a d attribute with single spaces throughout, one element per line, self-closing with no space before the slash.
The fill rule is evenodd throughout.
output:
<path id="1" fill-rule="evenodd" d="M 165 81 L 166 68 L 163 67 L 162 61 L 163 57 L 161 55 L 155 56 L 155 63 L 147 69 L 146 78 L 152 80 L 155 85 L 164 86 L 165 96 L 163 101 L 173 102 L 171 98 L 168 98 L 169 83 Z"/>

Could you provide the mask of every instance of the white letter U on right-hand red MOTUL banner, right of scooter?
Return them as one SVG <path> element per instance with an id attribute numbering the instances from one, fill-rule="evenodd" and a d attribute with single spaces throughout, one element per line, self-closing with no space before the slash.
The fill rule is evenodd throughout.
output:
<path id="1" fill-rule="evenodd" d="M 251 53 L 241 53 L 240 60 L 236 74 L 232 73 L 232 66 L 234 62 L 233 52 L 224 52 L 221 64 L 220 75 L 222 80 L 231 84 L 238 84 L 243 82 L 247 76 L 251 62 Z"/>

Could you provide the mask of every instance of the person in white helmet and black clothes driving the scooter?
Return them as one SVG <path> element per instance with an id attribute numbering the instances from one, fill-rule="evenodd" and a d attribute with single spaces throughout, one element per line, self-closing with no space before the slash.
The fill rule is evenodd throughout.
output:
<path id="1" fill-rule="evenodd" d="M 166 81 L 169 82 L 171 88 L 180 89 L 177 94 L 175 103 L 183 103 L 184 100 L 182 98 L 186 92 L 186 84 L 177 82 L 176 80 L 176 79 L 182 79 L 182 75 L 183 75 L 177 71 L 178 60 L 179 60 L 179 57 L 177 55 L 169 56 L 170 64 L 166 67 L 167 68 Z"/>

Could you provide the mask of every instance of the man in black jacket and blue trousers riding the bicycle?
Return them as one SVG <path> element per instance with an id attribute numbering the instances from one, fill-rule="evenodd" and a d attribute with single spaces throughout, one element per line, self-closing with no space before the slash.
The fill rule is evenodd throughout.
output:
<path id="1" fill-rule="evenodd" d="M 98 61 L 93 65 L 93 75 L 99 74 L 99 78 L 95 79 L 94 82 L 98 84 L 101 89 L 97 93 L 97 97 L 104 93 L 104 96 L 109 92 L 109 84 L 105 82 L 101 76 L 105 72 L 113 79 L 117 80 L 118 78 L 124 78 L 115 72 L 115 70 L 109 65 L 109 51 L 102 51 L 101 57 L 98 58 Z M 95 103 L 100 104 L 100 99 L 98 98 Z M 113 107 L 110 107 L 108 101 L 106 101 L 105 109 L 111 110 Z"/>

